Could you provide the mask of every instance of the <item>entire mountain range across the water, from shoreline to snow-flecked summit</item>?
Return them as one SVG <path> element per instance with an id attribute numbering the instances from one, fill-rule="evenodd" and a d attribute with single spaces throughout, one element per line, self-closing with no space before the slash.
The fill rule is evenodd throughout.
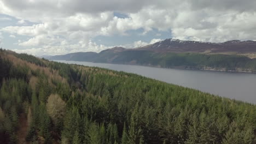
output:
<path id="1" fill-rule="evenodd" d="M 158 43 L 125 49 L 78 52 L 49 57 L 51 60 L 148 65 L 162 68 L 256 72 L 256 41 L 231 40 L 204 43 L 166 39 Z"/>

